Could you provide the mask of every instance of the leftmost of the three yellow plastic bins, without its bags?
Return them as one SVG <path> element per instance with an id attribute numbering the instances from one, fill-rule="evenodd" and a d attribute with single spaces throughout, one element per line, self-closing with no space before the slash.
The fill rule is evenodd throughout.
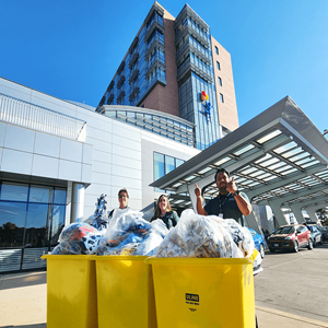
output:
<path id="1" fill-rule="evenodd" d="M 47 328 L 96 328 L 95 262 L 91 255 L 45 255 Z"/>

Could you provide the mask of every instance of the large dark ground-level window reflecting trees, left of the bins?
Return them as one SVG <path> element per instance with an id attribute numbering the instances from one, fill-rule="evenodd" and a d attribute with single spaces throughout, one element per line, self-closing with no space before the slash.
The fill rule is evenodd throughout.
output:
<path id="1" fill-rule="evenodd" d="M 57 245 L 65 225 L 62 188 L 2 181 L 0 185 L 0 249 Z"/>

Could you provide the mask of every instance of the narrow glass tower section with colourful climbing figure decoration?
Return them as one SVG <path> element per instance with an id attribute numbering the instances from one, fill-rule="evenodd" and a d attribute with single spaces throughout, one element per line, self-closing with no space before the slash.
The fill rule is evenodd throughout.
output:
<path id="1" fill-rule="evenodd" d="M 196 125 L 195 145 L 203 150 L 221 138 L 210 27 L 187 4 L 175 26 L 180 117 Z"/>

